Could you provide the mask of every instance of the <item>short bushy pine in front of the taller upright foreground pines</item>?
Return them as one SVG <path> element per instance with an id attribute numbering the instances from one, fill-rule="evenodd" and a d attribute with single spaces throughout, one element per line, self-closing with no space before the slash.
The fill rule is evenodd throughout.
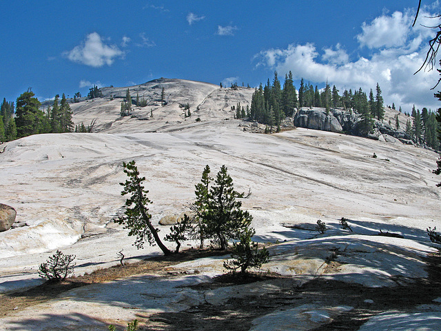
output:
<path id="1" fill-rule="evenodd" d="M 269 261 L 269 252 L 266 248 L 258 249 L 258 244 L 251 240 L 256 231 L 249 228 L 240 234 L 240 241 L 233 243 L 232 259 L 223 263 L 227 270 L 240 269 L 245 274 L 249 268 L 260 268 Z"/>

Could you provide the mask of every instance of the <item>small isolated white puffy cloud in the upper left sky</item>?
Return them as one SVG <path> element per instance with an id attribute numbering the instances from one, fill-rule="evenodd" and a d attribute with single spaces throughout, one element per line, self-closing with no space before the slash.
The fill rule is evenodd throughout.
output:
<path id="1" fill-rule="evenodd" d="M 124 52 L 116 45 L 106 45 L 98 33 L 92 32 L 88 34 L 81 45 L 75 46 L 72 50 L 63 54 L 70 61 L 99 68 L 105 64 L 111 66 L 116 57 L 123 57 Z"/>

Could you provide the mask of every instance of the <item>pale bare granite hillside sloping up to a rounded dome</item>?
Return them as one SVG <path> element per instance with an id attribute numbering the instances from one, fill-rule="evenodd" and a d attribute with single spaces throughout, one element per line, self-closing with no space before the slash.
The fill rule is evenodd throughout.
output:
<path id="1" fill-rule="evenodd" d="M 158 101 L 162 88 L 166 106 Z M 276 244 L 270 248 L 273 259 L 263 270 L 289 277 L 295 282 L 290 283 L 293 287 L 311 279 L 326 279 L 369 289 L 409 285 L 430 274 L 424 265 L 428 254 L 436 250 L 425 229 L 441 228 L 440 189 L 435 186 L 440 179 L 432 174 L 438 159 L 435 152 L 305 128 L 252 133 L 252 124 L 233 119 L 230 108 L 238 102 L 246 107 L 253 89 L 221 89 L 176 79 L 130 87 L 132 97 L 139 93 L 148 100 L 147 106 L 135 107 L 134 117 L 121 119 L 125 90 L 127 87 L 103 88 L 103 98 L 72 103 L 74 122 L 87 125 L 96 119 L 96 133 L 25 137 L 7 143 L 0 154 L 0 202 L 17 210 L 17 226 L 0 232 L 0 292 L 41 283 L 38 265 L 57 248 L 76 255 L 77 275 L 117 264 L 116 252 L 121 248 L 131 261 L 159 254 L 156 246 L 146 245 L 137 251 L 127 231 L 112 222 L 125 201 L 119 185 L 125 181 L 121 164 L 132 159 L 147 178 L 145 187 L 153 201 L 149 208 L 156 224 L 167 214 L 180 214 L 194 201 L 194 185 L 206 164 L 214 173 L 227 165 L 235 188 L 252 191 L 243 207 L 254 217 L 254 240 Z M 186 103 L 192 111 L 187 118 L 181 107 Z M 198 117 L 201 121 L 196 122 Z M 378 158 L 374 159 L 373 153 Z M 340 228 L 342 217 L 349 219 L 353 233 Z M 318 219 L 329 228 L 325 234 L 314 231 Z M 164 237 L 168 227 L 158 227 Z M 380 230 L 402 234 L 404 239 L 373 236 Z M 225 271 L 222 260 L 226 258 L 181 263 L 176 270 L 187 274 L 173 279 L 167 280 L 170 275 L 143 275 L 74 290 L 66 294 L 65 301 L 48 301 L 8 314 L 0 319 L 0 330 L 52 330 L 54 321 L 60 321 L 64 330 L 74 330 L 72 325 L 105 330 L 105 323 L 119 323 L 116 317 L 147 321 L 158 312 L 188 311 L 205 302 L 219 304 L 209 298 L 220 298 L 220 304 L 226 304 L 237 292 L 234 287 L 222 293 L 203 287 L 188 288 L 187 292 L 182 289 L 212 282 L 212 277 Z M 142 290 L 138 288 L 141 283 Z M 248 285 L 243 291 L 280 294 L 285 285 L 268 281 L 256 288 Z M 121 286 L 132 292 L 121 294 Z M 154 297 L 150 292 L 155 290 L 161 295 Z M 167 294 L 170 291 L 174 294 Z M 154 299 L 147 303 L 143 295 Z M 431 299 L 427 297 L 429 302 Z M 294 312 L 298 309 L 294 301 L 285 308 L 300 314 Z M 314 303 L 307 308 L 314 311 L 314 318 L 322 307 L 335 308 L 327 310 L 329 319 L 344 315 L 346 308 L 336 308 L 343 305 L 340 301 L 332 306 L 312 301 L 305 305 Z M 377 312 L 392 314 L 387 307 L 374 306 Z M 441 318 L 439 305 L 435 308 L 433 316 Z M 280 314 L 277 305 L 276 312 Z M 412 305 L 409 316 L 413 313 L 426 314 L 427 310 Z M 87 318 L 79 320 L 75 314 Z M 63 316 L 72 320 L 63 322 Z M 285 324 L 289 319 L 276 316 Z M 31 317 L 32 329 L 21 322 Z M 329 319 L 320 323 L 329 323 Z M 301 330 L 317 328 L 321 325 L 317 321 L 311 317 L 309 327 Z M 270 322 L 253 319 L 252 330 L 265 330 L 265 323 Z"/>

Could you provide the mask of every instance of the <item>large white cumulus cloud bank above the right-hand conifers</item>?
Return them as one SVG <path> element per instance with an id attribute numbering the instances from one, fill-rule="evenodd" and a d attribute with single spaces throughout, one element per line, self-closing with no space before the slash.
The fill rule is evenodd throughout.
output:
<path id="1" fill-rule="evenodd" d="M 430 89 L 438 81 L 438 72 L 413 74 L 424 61 L 429 29 L 411 28 L 412 19 L 411 14 L 394 12 L 364 23 L 357 39 L 360 47 L 371 49 L 369 57 L 349 59 L 339 44 L 317 50 L 313 43 L 292 43 L 285 49 L 263 50 L 254 60 L 257 66 L 277 70 L 280 76 L 291 70 L 296 79 L 303 77 L 318 84 L 329 81 L 340 91 L 361 87 L 369 92 L 378 82 L 386 104 L 395 103 L 404 111 L 409 111 L 413 103 L 420 109 L 434 110 L 438 106 Z M 387 28 L 391 29 L 389 34 Z"/>

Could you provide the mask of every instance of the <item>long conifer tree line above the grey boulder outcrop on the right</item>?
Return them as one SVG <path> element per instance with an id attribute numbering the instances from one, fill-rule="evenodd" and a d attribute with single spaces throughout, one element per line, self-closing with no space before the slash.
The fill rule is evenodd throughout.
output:
<path id="1" fill-rule="evenodd" d="M 325 108 L 327 114 L 333 108 L 357 112 L 361 117 L 358 130 L 362 136 L 366 136 L 372 130 L 373 119 L 378 121 L 384 119 L 384 99 L 378 83 L 375 92 L 370 89 L 369 94 L 362 88 L 344 90 L 341 95 L 339 92 L 335 85 L 331 88 L 329 83 L 326 83 L 324 89 L 319 90 L 318 86 L 314 87 L 311 83 L 305 83 L 303 78 L 300 79 L 300 86 L 297 90 L 291 71 L 289 74 L 285 74 L 282 88 L 278 73 L 274 72 L 272 83 L 268 79 L 265 86 L 260 83 L 260 86 L 254 90 L 249 110 L 246 112 L 241 110 L 240 104 L 236 108 L 233 106 L 232 110 L 235 110 L 236 118 L 248 117 L 253 121 L 266 124 L 269 126 L 268 132 L 272 132 L 273 128 L 277 128 L 278 132 L 281 121 L 286 117 L 292 117 L 296 109 L 302 107 Z M 394 103 L 391 108 L 396 109 Z M 401 106 L 399 111 L 402 112 Z M 436 121 L 436 114 L 427 108 L 423 108 L 420 112 L 415 107 L 413 107 L 411 115 L 405 112 L 404 114 L 409 117 L 405 131 L 411 139 L 420 145 L 438 149 L 440 142 L 437 139 L 437 134 L 440 125 Z M 411 116 L 413 119 L 410 118 Z M 389 124 L 398 130 L 400 128 L 398 115 L 395 123 L 389 121 Z"/>

